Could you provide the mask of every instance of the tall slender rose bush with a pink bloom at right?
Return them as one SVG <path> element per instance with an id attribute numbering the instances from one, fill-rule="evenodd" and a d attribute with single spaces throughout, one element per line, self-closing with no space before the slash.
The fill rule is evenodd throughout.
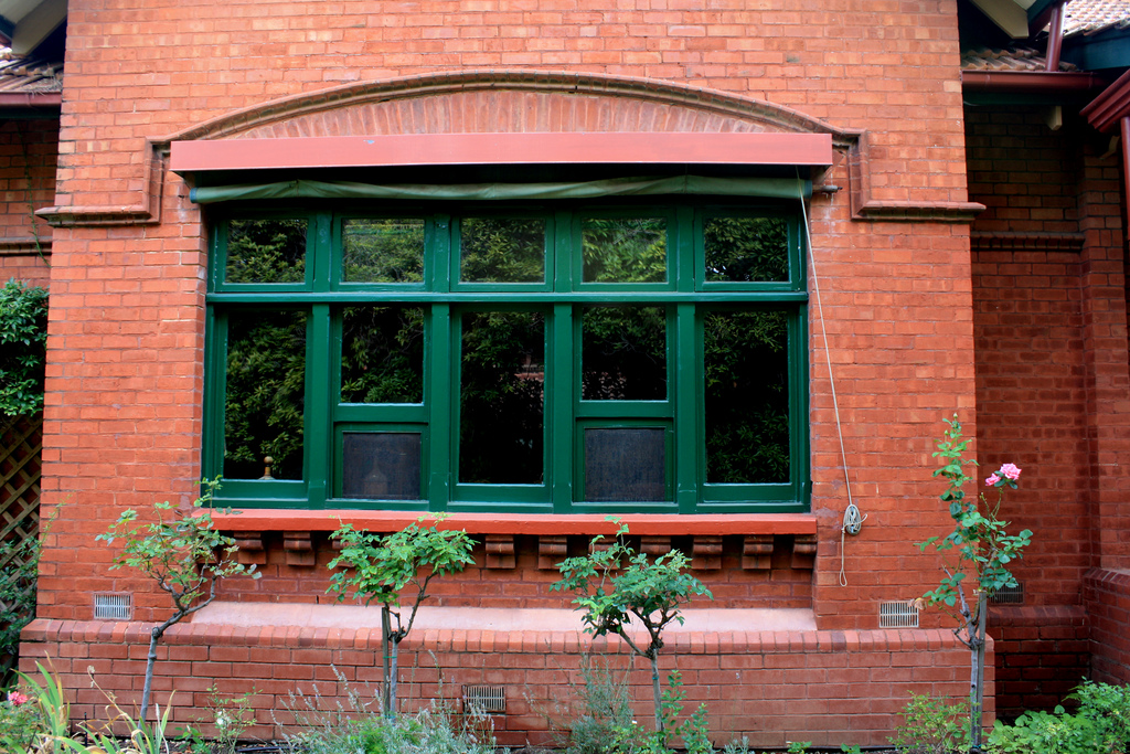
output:
<path id="1" fill-rule="evenodd" d="M 941 500 L 949 503 L 949 515 L 955 526 L 945 537 L 930 537 L 918 546 L 922 551 L 930 545 L 942 552 L 954 551 L 956 561 L 942 564 L 946 578 L 937 589 L 922 595 L 919 604 L 940 604 L 949 608 L 947 612 L 957 621 L 954 634 L 970 650 L 970 751 L 980 752 L 989 599 L 1001 589 L 1016 586 L 1016 578 L 1009 572 L 1008 564 L 1020 557 L 1022 551 L 1032 539 L 1032 531 L 1025 529 L 1018 535 L 1009 535 L 1005 530 L 1008 522 L 998 518 L 1005 489 L 1016 489 L 1016 480 L 1020 477 L 1020 469 L 1015 465 L 1005 463 L 985 479 L 985 485 L 997 492 L 994 503 L 990 504 L 983 494 L 973 495 L 972 499 L 965 496 L 962 487 L 972 479 L 965 474 L 965 467 L 977 463 L 973 459 L 963 458 L 968 440 L 962 440 L 962 425 L 957 422 L 957 416 L 946 423 L 949 430 L 938 441 L 938 451 L 933 454 L 935 458 L 941 458 L 944 465 L 933 476 L 947 482 Z M 967 577 L 972 577 L 974 581 L 972 596 L 965 590 Z"/>

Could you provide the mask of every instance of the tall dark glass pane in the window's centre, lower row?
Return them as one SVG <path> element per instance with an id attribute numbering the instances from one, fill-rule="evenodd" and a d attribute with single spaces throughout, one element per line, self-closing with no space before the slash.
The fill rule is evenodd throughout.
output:
<path id="1" fill-rule="evenodd" d="M 463 315 L 460 482 L 541 483 L 545 353 L 540 313 Z"/>

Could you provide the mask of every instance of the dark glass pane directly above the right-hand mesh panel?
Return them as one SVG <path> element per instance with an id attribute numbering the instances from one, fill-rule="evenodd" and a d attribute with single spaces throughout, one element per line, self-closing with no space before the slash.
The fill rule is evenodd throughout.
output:
<path id="1" fill-rule="evenodd" d="M 667 313 L 662 306 L 583 310 L 581 398 L 667 398 Z"/>

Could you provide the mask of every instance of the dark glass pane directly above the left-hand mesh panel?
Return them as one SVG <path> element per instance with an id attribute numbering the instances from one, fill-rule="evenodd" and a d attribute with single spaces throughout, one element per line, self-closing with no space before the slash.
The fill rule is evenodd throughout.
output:
<path id="1" fill-rule="evenodd" d="M 424 402 L 424 310 L 347 306 L 341 320 L 341 402 Z"/>

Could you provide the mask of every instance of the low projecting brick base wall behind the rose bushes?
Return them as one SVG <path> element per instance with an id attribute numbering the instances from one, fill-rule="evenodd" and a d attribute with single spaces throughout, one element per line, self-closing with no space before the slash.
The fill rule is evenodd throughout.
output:
<path id="1" fill-rule="evenodd" d="M 137 624 L 44 621 L 25 640 L 21 667 L 34 671 L 34 661 L 50 658 L 73 690 L 73 718 L 101 719 L 104 692 L 113 692 L 119 704 L 137 703 L 148 652 L 148 632 Z M 271 738 L 279 734 L 275 721 L 289 721 L 290 693 L 311 695 L 316 686 L 322 704 L 348 707 L 342 700 L 348 683 L 372 699 L 381 681 L 380 651 L 375 629 L 176 626 L 158 648 L 155 700 L 164 709 L 168 691 L 176 690 L 171 701 L 175 726 L 195 721 L 192 705 L 203 705 L 212 683 L 225 695 L 254 687 L 259 725 L 251 734 Z M 551 740 L 545 713 L 554 711 L 554 702 L 571 701 L 563 687 L 579 682 L 582 652 L 614 668 L 631 662 L 618 640 L 591 641 L 577 633 L 417 632 L 401 644 L 400 697 L 409 709 L 437 697 L 458 709 L 464 684 L 503 685 L 506 713 L 493 718 L 498 743 L 545 744 Z M 991 645 L 986 657 L 991 719 Z M 912 693 L 963 696 L 967 658 L 948 631 L 692 633 L 667 643 L 660 668 L 664 674 L 679 668 L 685 710 L 706 705 L 719 747 L 741 736 L 757 747 L 783 748 L 786 740 L 866 746 L 887 743 Z M 102 691 L 90 686 L 92 668 Z M 651 673 L 641 660 L 633 668 L 632 696 L 644 723 L 651 719 Z M 301 702 L 298 709 L 304 709 Z"/>

